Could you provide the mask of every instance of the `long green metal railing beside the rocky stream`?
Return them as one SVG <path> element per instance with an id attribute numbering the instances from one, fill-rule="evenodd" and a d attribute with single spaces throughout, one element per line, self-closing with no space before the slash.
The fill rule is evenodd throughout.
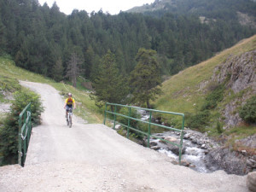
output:
<path id="1" fill-rule="evenodd" d="M 112 111 L 108 111 L 108 109 L 107 109 L 108 106 L 112 107 L 113 110 Z M 128 115 L 117 113 L 117 107 L 128 108 L 128 110 L 129 110 L 128 111 Z M 137 110 L 148 111 L 149 112 L 149 119 L 148 119 L 148 121 L 145 121 L 143 119 L 137 119 L 137 118 L 131 117 L 131 108 L 134 108 L 134 109 L 137 109 Z M 176 128 L 172 128 L 172 127 L 169 127 L 169 126 L 166 126 L 166 125 L 159 125 L 159 124 L 152 123 L 152 113 L 153 112 L 155 112 L 155 113 L 167 113 L 167 114 L 181 116 L 182 117 L 182 127 L 181 127 L 181 129 L 176 129 Z M 184 129 L 184 118 L 185 118 L 183 113 L 173 113 L 173 112 L 166 112 L 166 111 L 160 111 L 160 110 L 154 110 L 154 109 L 148 109 L 148 108 L 138 108 L 138 107 L 133 107 L 133 106 L 120 105 L 120 104 L 115 104 L 115 103 L 107 102 L 106 103 L 106 107 L 105 107 L 105 112 L 104 112 L 104 121 L 103 121 L 104 125 L 106 124 L 107 113 L 113 114 L 113 129 L 115 129 L 116 117 L 117 116 L 120 116 L 120 117 L 123 117 L 123 118 L 127 119 L 127 125 L 121 124 L 119 122 L 119 125 L 122 125 L 125 128 L 127 128 L 127 138 L 129 138 L 129 131 L 132 130 L 132 131 L 137 131 L 137 132 L 139 132 L 139 133 L 141 133 L 143 135 L 146 135 L 148 137 L 148 143 L 147 143 L 148 147 L 149 147 L 149 138 L 150 137 L 154 137 L 156 139 L 160 139 L 163 142 L 170 143 L 172 145 L 177 146 L 179 148 L 179 158 L 178 158 L 178 161 L 179 161 L 179 164 L 181 164 L 181 156 L 182 156 L 182 148 L 183 148 L 183 129 Z M 112 119 L 110 119 L 110 120 L 112 120 Z M 131 127 L 131 120 L 136 120 L 136 121 L 148 124 L 148 132 L 140 131 L 140 130 L 134 128 L 134 127 Z M 179 132 L 180 133 L 180 142 L 179 142 L 179 144 L 172 143 L 170 141 L 167 141 L 166 139 L 163 139 L 161 137 L 157 137 L 157 136 L 152 135 L 151 134 L 151 125 L 154 125 L 154 126 L 157 126 L 157 127 L 161 127 L 161 128 L 165 128 L 165 129 L 170 130 L 170 131 L 177 131 L 177 132 Z"/>

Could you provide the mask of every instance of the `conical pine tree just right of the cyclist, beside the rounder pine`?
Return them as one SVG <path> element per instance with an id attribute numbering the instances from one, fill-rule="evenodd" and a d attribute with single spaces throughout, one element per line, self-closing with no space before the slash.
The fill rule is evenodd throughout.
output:
<path id="1" fill-rule="evenodd" d="M 102 58 L 92 86 L 95 92 L 91 94 L 91 97 L 98 107 L 102 107 L 104 102 L 125 103 L 129 88 L 125 78 L 120 75 L 114 55 L 110 50 Z"/>

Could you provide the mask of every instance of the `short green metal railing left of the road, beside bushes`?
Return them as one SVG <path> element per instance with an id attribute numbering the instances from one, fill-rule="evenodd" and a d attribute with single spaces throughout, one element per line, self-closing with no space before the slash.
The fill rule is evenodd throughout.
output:
<path id="1" fill-rule="evenodd" d="M 19 115 L 18 163 L 20 164 L 20 166 L 24 166 L 25 164 L 26 151 L 31 137 L 31 131 L 31 103 L 29 103 Z"/>

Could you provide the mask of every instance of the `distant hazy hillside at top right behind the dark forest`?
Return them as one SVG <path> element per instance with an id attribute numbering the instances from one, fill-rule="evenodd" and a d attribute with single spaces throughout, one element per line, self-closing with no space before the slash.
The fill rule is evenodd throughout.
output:
<path id="1" fill-rule="evenodd" d="M 135 7 L 127 12 L 154 16 L 161 16 L 166 13 L 197 15 L 202 22 L 233 20 L 243 26 L 255 28 L 255 10 L 255 1 L 250 0 L 155 0 L 154 3 Z"/>

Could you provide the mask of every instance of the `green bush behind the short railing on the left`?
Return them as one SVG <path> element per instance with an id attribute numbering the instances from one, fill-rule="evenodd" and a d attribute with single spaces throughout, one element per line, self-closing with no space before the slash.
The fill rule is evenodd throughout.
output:
<path id="1" fill-rule="evenodd" d="M 32 102 L 32 126 L 40 123 L 40 114 L 43 112 L 40 97 L 28 90 L 15 92 L 15 101 L 11 107 L 11 113 L 0 128 L 0 156 L 2 155 L 3 162 L 0 164 L 15 164 L 17 163 L 18 150 L 18 119 L 21 111 L 26 105 Z"/>

